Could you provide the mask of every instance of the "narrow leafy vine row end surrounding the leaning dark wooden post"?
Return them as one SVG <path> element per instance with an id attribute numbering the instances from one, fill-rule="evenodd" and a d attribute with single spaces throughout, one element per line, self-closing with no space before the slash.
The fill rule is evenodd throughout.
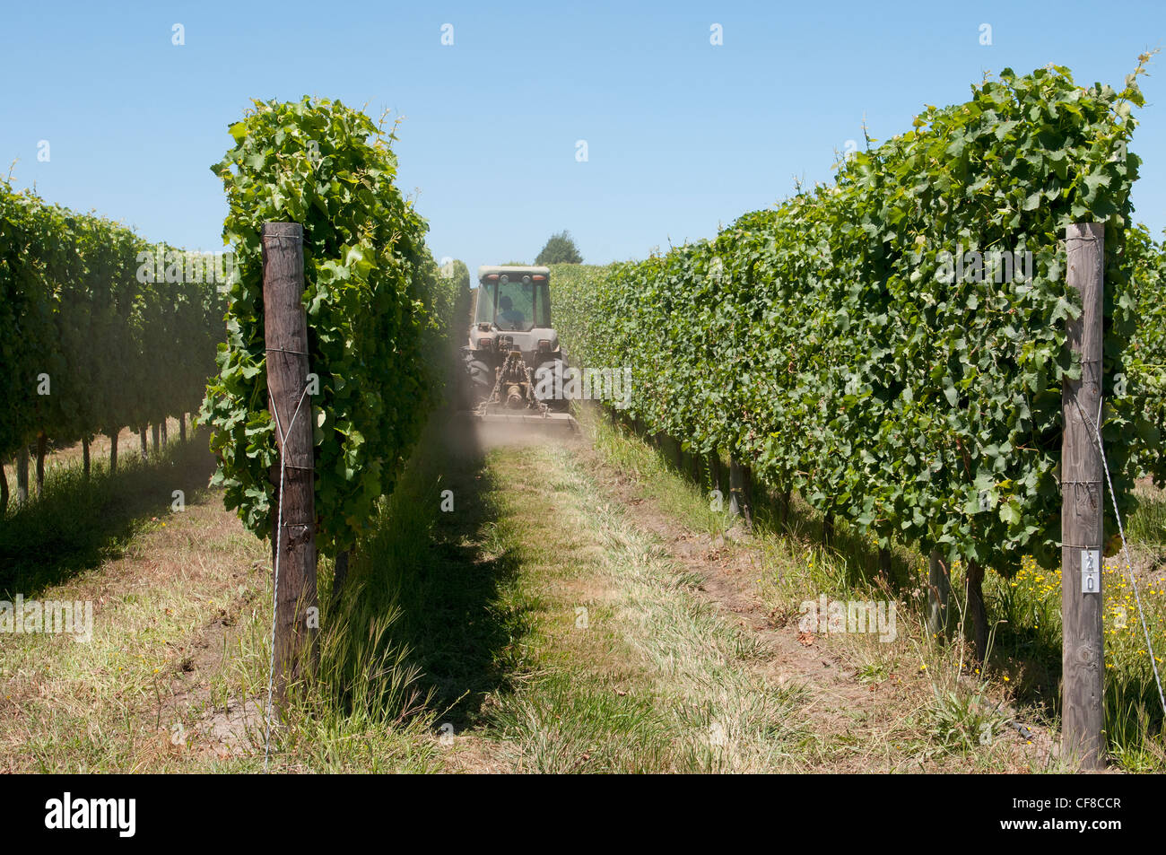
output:
<path id="1" fill-rule="evenodd" d="M 300 223 L 309 365 L 319 378 L 310 413 L 317 548 L 336 555 L 392 491 L 440 395 L 437 351 L 469 276 L 440 275 L 424 245 L 428 225 L 393 184 L 394 138 L 364 113 L 328 99 L 254 101 L 230 132 L 234 146 L 213 170 L 230 205 L 223 233 L 236 252 L 237 280 L 219 373 L 199 416 L 220 457 L 212 483 L 225 486 L 227 507 L 252 532 L 271 532 L 268 468 L 278 453 L 267 409 L 260 230 L 265 222 Z"/>

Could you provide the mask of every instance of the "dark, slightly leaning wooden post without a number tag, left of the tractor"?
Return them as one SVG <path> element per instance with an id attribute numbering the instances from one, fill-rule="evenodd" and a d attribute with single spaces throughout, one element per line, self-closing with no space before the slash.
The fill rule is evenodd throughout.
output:
<path id="1" fill-rule="evenodd" d="M 303 227 L 297 223 L 265 223 L 262 251 L 268 408 L 278 425 L 276 443 L 283 456 L 283 502 L 280 507 L 276 492 L 272 517 L 273 546 L 279 541 L 275 689 L 282 700 L 288 681 L 303 677 L 303 667 L 310 665 L 307 654 L 315 658 L 318 619 L 312 617 L 319 615 L 312 416 L 311 400 L 304 395 L 310 367 L 303 308 Z M 278 467 L 275 482 L 279 491 Z"/>

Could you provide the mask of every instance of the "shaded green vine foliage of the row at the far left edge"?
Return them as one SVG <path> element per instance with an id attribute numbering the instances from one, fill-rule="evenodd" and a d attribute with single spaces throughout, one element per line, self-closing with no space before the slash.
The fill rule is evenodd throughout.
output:
<path id="1" fill-rule="evenodd" d="M 198 408 L 222 307 L 187 260 L 0 182 L 0 461 Z"/>

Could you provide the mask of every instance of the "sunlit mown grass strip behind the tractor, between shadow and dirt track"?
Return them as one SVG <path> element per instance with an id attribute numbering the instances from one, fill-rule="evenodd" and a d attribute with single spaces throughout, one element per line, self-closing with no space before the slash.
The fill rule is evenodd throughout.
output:
<path id="1" fill-rule="evenodd" d="M 539 570 L 512 591 L 531 616 L 521 689 L 491 716 L 519 770 L 795 768 L 800 693 L 757 673 L 749 639 L 569 449 L 500 451 L 491 465 L 498 546 Z"/>

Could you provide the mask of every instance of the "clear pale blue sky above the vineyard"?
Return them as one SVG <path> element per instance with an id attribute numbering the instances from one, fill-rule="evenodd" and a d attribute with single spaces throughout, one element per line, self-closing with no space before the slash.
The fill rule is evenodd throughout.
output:
<path id="1" fill-rule="evenodd" d="M 471 268 L 533 261 L 562 229 L 597 264 L 710 237 L 795 177 L 828 181 L 864 118 L 885 139 L 1005 66 L 1053 62 L 1121 86 L 1140 51 L 1166 45 L 1161 0 L 37 0 L 0 21 L 0 160 L 20 159 L 17 187 L 217 250 L 225 203 L 209 167 L 227 126 L 251 98 L 328 96 L 403 117 L 400 187 L 434 255 Z M 1159 234 L 1164 79 L 1166 55 L 1142 78 L 1132 146 L 1146 161 L 1135 217 Z"/>

